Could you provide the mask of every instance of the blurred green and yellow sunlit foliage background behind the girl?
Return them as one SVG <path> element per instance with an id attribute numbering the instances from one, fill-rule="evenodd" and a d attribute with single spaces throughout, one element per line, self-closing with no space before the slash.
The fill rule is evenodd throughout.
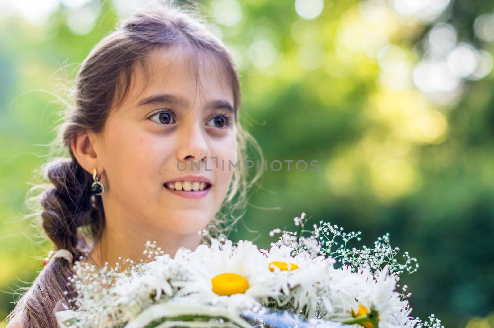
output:
<path id="1" fill-rule="evenodd" d="M 0 319 L 51 250 L 18 221 L 63 109 L 50 93 L 151 2 L 0 2 Z M 493 328 L 494 2 L 199 3 L 239 65 L 243 123 L 268 163 L 320 168 L 268 165 L 230 237 L 266 248 L 302 212 L 362 231 L 355 247 L 389 232 L 420 265 L 400 280 L 413 316 Z"/>

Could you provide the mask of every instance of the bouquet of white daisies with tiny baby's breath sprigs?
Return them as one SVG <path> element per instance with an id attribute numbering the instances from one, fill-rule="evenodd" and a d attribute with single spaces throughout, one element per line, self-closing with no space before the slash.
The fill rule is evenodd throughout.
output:
<path id="1" fill-rule="evenodd" d="M 122 272 L 119 263 L 97 269 L 76 262 L 67 284 L 78 297 L 60 300 L 55 316 L 62 328 L 444 328 L 434 315 L 426 322 L 410 316 L 407 286 L 396 289 L 400 274 L 418 263 L 408 252 L 398 263 L 389 234 L 373 249 L 348 249 L 360 231 L 323 221 L 306 230 L 306 220 L 305 213 L 294 219 L 298 233 L 271 231 L 281 237 L 269 250 L 220 235 L 173 258 L 148 241 L 146 261 L 126 259 Z"/>

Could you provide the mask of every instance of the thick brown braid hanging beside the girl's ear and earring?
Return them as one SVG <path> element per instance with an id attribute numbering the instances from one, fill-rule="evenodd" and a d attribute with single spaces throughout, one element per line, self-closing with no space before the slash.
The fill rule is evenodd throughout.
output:
<path id="1" fill-rule="evenodd" d="M 53 187 L 41 195 L 41 225 L 44 233 L 56 249 L 66 249 L 78 261 L 89 250 L 86 235 L 81 226 L 91 225 L 91 237 L 101 231 L 104 216 L 101 198 L 98 203 L 91 201 L 91 176 L 76 160 L 56 159 L 46 165 L 45 178 Z M 99 229 L 99 230 L 98 230 Z M 16 308 L 23 311 L 23 324 L 26 328 L 58 327 L 53 313 L 55 304 L 63 297 L 77 297 L 68 279 L 76 272 L 64 257 L 54 258 L 40 272 L 33 286 L 19 300 Z M 11 315 L 14 315 L 12 313 Z"/>

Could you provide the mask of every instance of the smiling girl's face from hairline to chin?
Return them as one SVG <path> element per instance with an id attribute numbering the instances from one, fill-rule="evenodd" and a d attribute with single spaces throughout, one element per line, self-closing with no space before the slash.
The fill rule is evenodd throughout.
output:
<path id="1" fill-rule="evenodd" d="M 218 63 L 205 56 L 196 76 L 187 52 L 153 51 L 148 75 L 137 65 L 122 105 L 110 111 L 95 151 L 104 169 L 105 216 L 116 220 L 114 226 L 133 221 L 128 227 L 191 234 L 219 210 L 233 175 L 228 163 L 237 162 L 237 130 L 232 88 Z M 170 181 L 188 188 L 183 182 L 193 179 L 183 177 L 189 175 L 211 185 L 197 194 L 168 188 Z"/>

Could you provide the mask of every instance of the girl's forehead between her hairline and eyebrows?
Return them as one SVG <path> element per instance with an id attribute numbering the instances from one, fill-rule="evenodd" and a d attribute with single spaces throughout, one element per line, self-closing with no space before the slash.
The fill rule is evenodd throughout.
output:
<path id="1" fill-rule="evenodd" d="M 137 105 L 140 99 L 157 94 L 175 94 L 192 102 L 222 98 L 233 104 L 233 89 L 225 68 L 205 51 L 174 46 L 154 49 L 132 70 L 123 103 Z"/>

